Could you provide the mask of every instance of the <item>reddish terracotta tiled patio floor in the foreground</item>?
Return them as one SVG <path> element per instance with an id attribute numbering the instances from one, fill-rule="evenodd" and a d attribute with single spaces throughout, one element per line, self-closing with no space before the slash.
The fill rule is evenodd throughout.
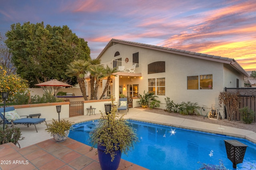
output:
<path id="1" fill-rule="evenodd" d="M 13 143 L 7 143 L 0 145 L 0 169 L 101 170 L 98 155 L 95 155 L 96 150 L 90 152 L 89 149 L 90 146 L 70 138 L 62 143 L 48 139 L 22 149 Z M 146 170 L 146 168 L 121 159 L 118 170 Z"/>

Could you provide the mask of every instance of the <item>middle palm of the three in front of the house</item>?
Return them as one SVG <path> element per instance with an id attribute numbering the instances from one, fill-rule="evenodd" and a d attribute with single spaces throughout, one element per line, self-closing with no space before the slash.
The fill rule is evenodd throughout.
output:
<path id="1" fill-rule="evenodd" d="M 91 99 L 97 99 L 98 88 L 100 86 L 100 80 L 106 76 L 106 69 L 102 65 L 90 66 L 90 85 L 91 85 Z"/>

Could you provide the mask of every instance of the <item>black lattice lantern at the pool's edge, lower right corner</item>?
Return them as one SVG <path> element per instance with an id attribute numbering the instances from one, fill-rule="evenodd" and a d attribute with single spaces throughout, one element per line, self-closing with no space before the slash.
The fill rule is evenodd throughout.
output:
<path id="1" fill-rule="evenodd" d="M 236 164 L 242 163 L 247 145 L 236 140 L 224 140 L 228 159 L 233 163 L 233 168 Z"/>

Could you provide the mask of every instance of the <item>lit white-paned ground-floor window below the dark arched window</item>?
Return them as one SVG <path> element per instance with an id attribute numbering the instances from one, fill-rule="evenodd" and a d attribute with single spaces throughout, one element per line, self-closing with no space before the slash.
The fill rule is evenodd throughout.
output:
<path id="1" fill-rule="evenodd" d="M 157 95 L 165 95 L 165 78 L 148 79 L 148 92 Z"/>

